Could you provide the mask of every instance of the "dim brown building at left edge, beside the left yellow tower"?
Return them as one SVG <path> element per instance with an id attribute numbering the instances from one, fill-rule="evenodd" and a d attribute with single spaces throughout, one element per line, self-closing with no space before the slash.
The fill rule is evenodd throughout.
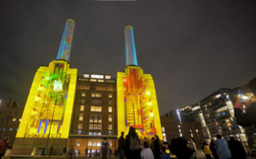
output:
<path id="1" fill-rule="evenodd" d="M 23 107 L 11 98 L 0 98 L 0 137 L 9 137 L 13 144 L 18 130 L 18 125 L 23 115 Z"/>

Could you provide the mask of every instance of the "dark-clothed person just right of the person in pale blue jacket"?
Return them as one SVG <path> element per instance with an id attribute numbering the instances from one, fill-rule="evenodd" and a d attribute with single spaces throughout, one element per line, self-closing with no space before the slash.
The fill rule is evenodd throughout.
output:
<path id="1" fill-rule="evenodd" d="M 231 152 L 232 158 L 245 159 L 246 152 L 244 147 L 242 147 L 242 143 L 240 141 L 236 141 L 234 137 L 229 138 L 230 140 L 227 141 L 227 143 L 229 144 L 229 150 Z"/>

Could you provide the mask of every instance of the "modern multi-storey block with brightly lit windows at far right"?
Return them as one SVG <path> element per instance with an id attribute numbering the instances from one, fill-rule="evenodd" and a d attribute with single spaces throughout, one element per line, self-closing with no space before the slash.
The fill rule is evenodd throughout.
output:
<path id="1" fill-rule="evenodd" d="M 250 139 L 248 135 L 252 138 L 256 131 L 253 127 L 243 128 L 236 123 L 232 96 L 238 94 L 237 90 L 237 88 L 233 90 L 221 88 L 195 105 L 183 107 L 180 111 L 189 111 L 197 121 L 201 122 L 205 139 L 216 138 L 216 135 L 221 134 L 229 141 L 229 137 L 233 136 L 242 141 L 244 147 L 248 149 L 252 145 L 252 141 L 248 143 Z M 246 129 L 251 133 L 247 135 Z"/>

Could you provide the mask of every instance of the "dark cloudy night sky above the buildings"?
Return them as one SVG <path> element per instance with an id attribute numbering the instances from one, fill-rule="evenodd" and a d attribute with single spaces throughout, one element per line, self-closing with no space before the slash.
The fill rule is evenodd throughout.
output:
<path id="1" fill-rule="evenodd" d="M 256 77 L 253 1 L 0 1 L 0 96 L 25 105 L 40 65 L 57 56 L 76 22 L 70 64 L 79 73 L 124 71 L 124 27 L 134 27 L 139 66 L 151 73 L 160 113 Z"/>

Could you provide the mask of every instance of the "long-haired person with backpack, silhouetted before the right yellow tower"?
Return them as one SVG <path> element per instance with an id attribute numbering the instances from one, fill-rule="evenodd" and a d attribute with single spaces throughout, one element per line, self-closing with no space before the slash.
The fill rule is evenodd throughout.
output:
<path id="1" fill-rule="evenodd" d="M 128 159 L 141 158 L 141 143 L 134 127 L 130 127 L 128 135 L 126 135 L 125 155 Z"/>

